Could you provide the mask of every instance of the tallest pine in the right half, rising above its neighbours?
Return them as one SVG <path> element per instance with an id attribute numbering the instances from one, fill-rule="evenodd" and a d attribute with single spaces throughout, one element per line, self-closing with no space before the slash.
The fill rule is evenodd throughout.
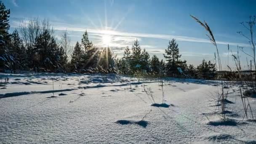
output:
<path id="1" fill-rule="evenodd" d="M 164 57 L 166 61 L 168 61 L 166 65 L 166 70 L 168 74 L 179 74 L 177 68 L 178 67 L 184 67 L 184 63 L 186 61 L 181 61 L 179 58 L 181 58 L 181 55 L 179 54 L 179 48 L 178 43 L 176 43 L 175 39 L 172 39 L 169 41 L 168 48 L 165 49 Z"/>

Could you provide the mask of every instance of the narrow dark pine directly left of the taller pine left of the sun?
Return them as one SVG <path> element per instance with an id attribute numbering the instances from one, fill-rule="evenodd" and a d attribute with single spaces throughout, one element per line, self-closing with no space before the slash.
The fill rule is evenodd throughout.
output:
<path id="1" fill-rule="evenodd" d="M 82 61 L 83 61 L 83 53 L 80 44 L 77 42 L 74 48 L 74 51 L 72 53 L 71 57 L 71 70 L 72 72 L 74 70 L 80 71 L 82 67 Z"/>

